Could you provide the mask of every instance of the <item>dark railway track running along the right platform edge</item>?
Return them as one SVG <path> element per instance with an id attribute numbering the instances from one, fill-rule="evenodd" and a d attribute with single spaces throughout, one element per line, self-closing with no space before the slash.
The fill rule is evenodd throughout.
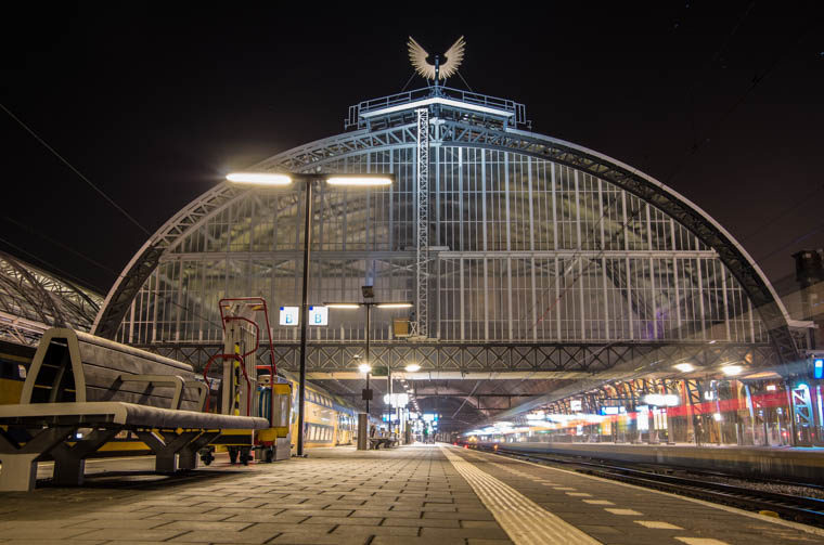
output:
<path id="1" fill-rule="evenodd" d="M 660 469 L 658 469 L 658 471 L 655 471 L 651 469 L 639 469 L 636 467 L 617 466 L 606 462 L 587 462 L 569 458 L 564 459 L 537 453 L 524 453 L 505 447 L 484 450 L 499 455 L 527 459 L 529 462 L 536 462 L 539 464 L 562 464 L 567 466 L 578 466 L 575 468 L 575 470 L 581 473 L 627 482 L 640 486 L 652 488 L 690 497 L 696 497 L 708 502 L 731 505 L 733 507 L 738 507 L 742 509 L 776 514 L 786 520 L 793 520 L 796 522 L 802 522 L 806 524 L 824 528 L 824 499 L 725 484 L 711 480 L 700 479 L 699 476 L 696 478 L 687 478 L 662 475 L 660 472 Z M 732 479 L 741 479 L 741 477 L 719 473 L 716 471 L 707 472 L 707 475 L 711 475 L 713 477 L 729 477 Z M 799 485 L 798 483 L 788 483 L 775 480 L 759 481 L 757 479 L 754 479 L 754 481 Z M 803 485 L 809 486 L 807 484 Z"/>

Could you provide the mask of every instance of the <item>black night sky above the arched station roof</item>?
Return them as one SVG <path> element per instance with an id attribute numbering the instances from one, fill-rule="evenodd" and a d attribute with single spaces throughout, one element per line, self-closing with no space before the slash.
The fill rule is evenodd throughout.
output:
<path id="1" fill-rule="evenodd" d="M 464 35 L 473 90 L 671 185 L 771 278 L 824 246 L 816 2 L 240 3 L 4 8 L 0 101 L 154 232 L 228 171 L 400 91 L 409 35 L 430 52 Z M 0 137 L 0 249 L 107 290 L 145 234 L 5 112 Z"/>

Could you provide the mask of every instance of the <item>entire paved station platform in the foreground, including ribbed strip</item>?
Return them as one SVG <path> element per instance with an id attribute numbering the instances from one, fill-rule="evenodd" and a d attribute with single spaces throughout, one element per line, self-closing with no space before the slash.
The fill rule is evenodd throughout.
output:
<path id="1" fill-rule="evenodd" d="M 0 493 L 0 544 L 813 544 L 824 530 L 459 449 L 312 449 L 188 476 L 90 466 L 83 488 Z M 128 467 L 127 467 L 128 466 Z M 43 466 L 48 471 L 48 466 Z"/>

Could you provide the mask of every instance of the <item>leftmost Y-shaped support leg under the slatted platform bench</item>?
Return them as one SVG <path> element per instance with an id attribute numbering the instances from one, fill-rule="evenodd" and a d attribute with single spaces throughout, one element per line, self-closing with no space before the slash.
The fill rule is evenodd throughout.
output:
<path id="1" fill-rule="evenodd" d="M 77 426 L 40 430 L 21 446 L 0 428 L 0 491 L 30 492 L 37 484 L 37 460 L 74 433 Z"/>

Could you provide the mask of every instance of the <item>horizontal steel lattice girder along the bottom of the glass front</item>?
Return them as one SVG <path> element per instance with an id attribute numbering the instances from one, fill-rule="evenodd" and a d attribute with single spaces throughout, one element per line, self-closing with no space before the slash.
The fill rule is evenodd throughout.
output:
<path id="1" fill-rule="evenodd" d="M 178 343 L 140 346 L 145 350 L 203 368 L 208 358 L 222 345 Z M 356 355 L 363 354 L 358 343 L 310 343 L 307 372 L 339 373 L 357 369 Z M 279 367 L 297 368 L 298 343 L 278 345 L 274 359 Z M 717 342 L 613 342 L 613 343 L 490 343 L 461 345 L 435 342 L 374 343 L 370 348 L 375 365 L 388 365 L 402 372 L 408 363 L 421 365 L 420 373 L 567 373 L 558 378 L 580 378 L 616 366 L 639 367 L 646 373 L 669 371 L 673 363 L 692 361 L 711 366 L 729 361 L 747 361 L 752 368 L 777 365 L 775 351 L 770 345 Z M 268 361 L 268 349 L 260 349 L 258 358 Z"/>

